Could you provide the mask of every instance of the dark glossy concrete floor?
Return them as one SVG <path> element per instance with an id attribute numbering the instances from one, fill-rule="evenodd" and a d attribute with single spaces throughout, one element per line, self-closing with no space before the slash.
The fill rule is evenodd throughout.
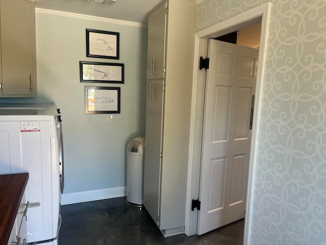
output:
<path id="1" fill-rule="evenodd" d="M 125 198 L 62 206 L 59 245 L 241 245 L 244 219 L 204 235 L 164 238 L 145 208 L 126 204 Z"/>

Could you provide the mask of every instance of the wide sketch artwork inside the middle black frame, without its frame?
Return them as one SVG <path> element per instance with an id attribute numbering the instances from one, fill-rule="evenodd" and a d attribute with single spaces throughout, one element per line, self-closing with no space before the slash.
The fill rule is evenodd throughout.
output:
<path id="1" fill-rule="evenodd" d="M 122 67 L 83 64 L 83 80 L 122 81 Z"/>

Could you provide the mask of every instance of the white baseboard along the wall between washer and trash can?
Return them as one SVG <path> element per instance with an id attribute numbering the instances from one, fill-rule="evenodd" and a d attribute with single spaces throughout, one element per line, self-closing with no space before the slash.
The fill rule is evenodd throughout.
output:
<path id="1" fill-rule="evenodd" d="M 126 187 L 108 188 L 101 190 L 90 190 L 62 194 L 61 205 L 84 203 L 109 198 L 120 198 L 126 196 Z"/>

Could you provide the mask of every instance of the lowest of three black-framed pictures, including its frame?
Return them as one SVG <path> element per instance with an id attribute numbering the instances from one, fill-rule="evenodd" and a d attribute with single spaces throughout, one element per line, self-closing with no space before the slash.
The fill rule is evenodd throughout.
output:
<path id="1" fill-rule="evenodd" d="M 85 86 L 85 114 L 120 113 L 120 88 Z"/>

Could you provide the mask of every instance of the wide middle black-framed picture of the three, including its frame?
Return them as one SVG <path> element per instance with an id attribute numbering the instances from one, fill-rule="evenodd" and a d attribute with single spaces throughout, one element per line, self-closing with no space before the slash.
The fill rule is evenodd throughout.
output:
<path id="1" fill-rule="evenodd" d="M 124 64 L 79 61 L 80 82 L 124 83 Z"/>

